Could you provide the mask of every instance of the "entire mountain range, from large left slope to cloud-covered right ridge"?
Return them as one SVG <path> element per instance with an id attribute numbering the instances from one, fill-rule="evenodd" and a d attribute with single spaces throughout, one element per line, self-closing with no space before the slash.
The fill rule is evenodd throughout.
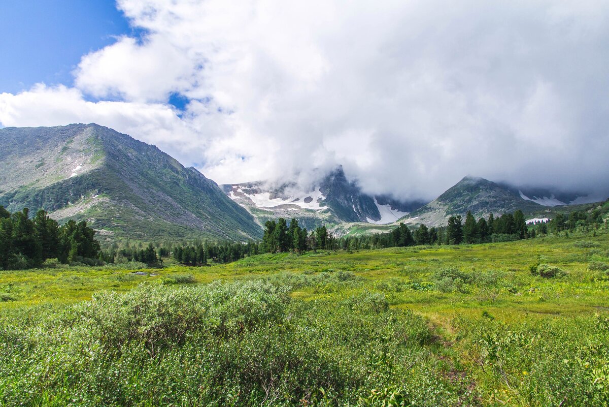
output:
<path id="1" fill-rule="evenodd" d="M 297 218 L 337 235 L 388 230 L 400 222 L 445 225 L 523 210 L 527 218 L 582 207 L 581 193 L 518 188 L 467 176 L 429 203 L 370 195 L 342 167 L 301 185 L 217 185 L 157 147 L 97 124 L 0 129 L 0 205 L 44 208 L 60 222 L 88 221 L 102 239 L 260 238 L 264 222 Z"/>

